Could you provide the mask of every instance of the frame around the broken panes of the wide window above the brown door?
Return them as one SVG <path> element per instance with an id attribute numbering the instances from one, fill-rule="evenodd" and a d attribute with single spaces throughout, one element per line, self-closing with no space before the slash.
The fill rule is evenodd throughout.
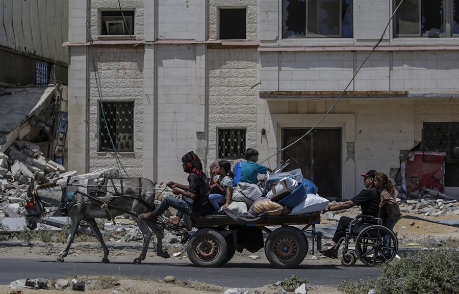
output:
<path id="1" fill-rule="evenodd" d="M 282 23 L 283 23 L 283 28 L 282 28 L 282 37 L 284 39 L 291 39 L 291 38 L 340 38 L 340 39 L 350 39 L 350 38 L 353 38 L 354 36 L 354 31 L 353 31 L 353 23 L 354 23 L 354 10 L 353 10 L 353 5 L 354 5 L 354 0 L 350 0 L 349 1 L 349 5 L 350 5 L 350 15 L 351 15 L 351 20 L 350 20 L 350 37 L 343 37 L 343 17 L 339 17 L 338 18 L 338 21 L 339 21 L 339 24 L 338 24 L 338 27 L 339 27 L 339 34 L 316 34 L 316 33 L 313 33 L 309 30 L 308 28 L 308 13 L 309 13 L 309 9 L 310 9 L 310 6 L 309 6 L 309 3 L 308 1 L 309 0 L 304 0 L 305 2 L 305 9 L 306 9 L 306 12 L 305 12 L 305 23 L 304 23 L 304 30 L 305 30 L 305 33 L 304 35 L 288 35 L 287 34 L 287 18 L 288 18 L 288 15 L 287 15 L 287 3 L 288 0 L 282 0 L 282 14 L 283 14 L 283 20 L 282 20 Z M 343 1 L 339 1 L 339 11 L 341 12 L 341 15 L 342 15 L 342 10 L 343 10 Z M 317 13 L 318 14 L 318 13 Z M 319 21 L 319 19 L 317 19 L 317 21 Z M 319 23 L 319 22 L 317 22 Z"/>

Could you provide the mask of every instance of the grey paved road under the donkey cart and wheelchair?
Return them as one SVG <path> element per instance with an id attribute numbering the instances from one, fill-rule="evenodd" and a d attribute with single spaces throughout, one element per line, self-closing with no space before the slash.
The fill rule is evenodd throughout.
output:
<path id="1" fill-rule="evenodd" d="M 163 279 L 173 275 L 177 280 L 196 280 L 226 287 L 261 287 L 273 284 L 296 274 L 306 278 L 311 284 L 338 286 L 343 279 L 357 281 L 380 275 L 377 268 L 369 268 L 360 261 L 352 268 L 345 268 L 338 260 L 305 260 L 298 268 L 276 269 L 266 260 L 253 262 L 228 262 L 219 268 L 197 268 L 187 258 L 158 259 L 147 258 L 142 264 L 133 264 L 121 256 L 109 256 L 111 262 L 100 263 L 100 257 L 68 256 L 65 262 L 55 262 L 55 257 L 37 255 L 12 258 L 0 256 L 0 284 L 9 284 L 23 278 L 68 278 L 69 274 L 142 276 Z M 260 262 L 258 262 L 260 261 Z"/>

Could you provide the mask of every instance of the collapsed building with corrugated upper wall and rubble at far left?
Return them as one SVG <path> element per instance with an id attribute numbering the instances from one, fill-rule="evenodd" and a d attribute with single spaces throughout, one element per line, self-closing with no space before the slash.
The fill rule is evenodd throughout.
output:
<path id="1" fill-rule="evenodd" d="M 0 217 L 18 217 L 31 178 L 65 172 L 68 1 L 0 5 Z"/>

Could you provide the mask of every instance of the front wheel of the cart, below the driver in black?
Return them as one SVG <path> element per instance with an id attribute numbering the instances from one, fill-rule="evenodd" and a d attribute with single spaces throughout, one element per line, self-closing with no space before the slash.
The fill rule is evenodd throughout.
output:
<path id="1" fill-rule="evenodd" d="M 213 229 L 199 229 L 188 240 L 187 254 L 191 262 L 212 268 L 222 263 L 226 256 L 226 241 Z"/>

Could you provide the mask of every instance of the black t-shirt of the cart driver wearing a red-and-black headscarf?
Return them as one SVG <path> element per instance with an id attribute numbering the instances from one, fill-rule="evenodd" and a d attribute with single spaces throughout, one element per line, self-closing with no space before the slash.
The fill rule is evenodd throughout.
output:
<path id="1" fill-rule="evenodd" d="M 188 175 L 188 184 L 190 186 L 190 193 L 196 195 L 193 199 L 193 210 L 196 215 L 208 215 L 210 211 L 209 202 L 209 183 L 207 182 L 207 176 L 201 172 L 199 176 L 195 173 Z"/>

